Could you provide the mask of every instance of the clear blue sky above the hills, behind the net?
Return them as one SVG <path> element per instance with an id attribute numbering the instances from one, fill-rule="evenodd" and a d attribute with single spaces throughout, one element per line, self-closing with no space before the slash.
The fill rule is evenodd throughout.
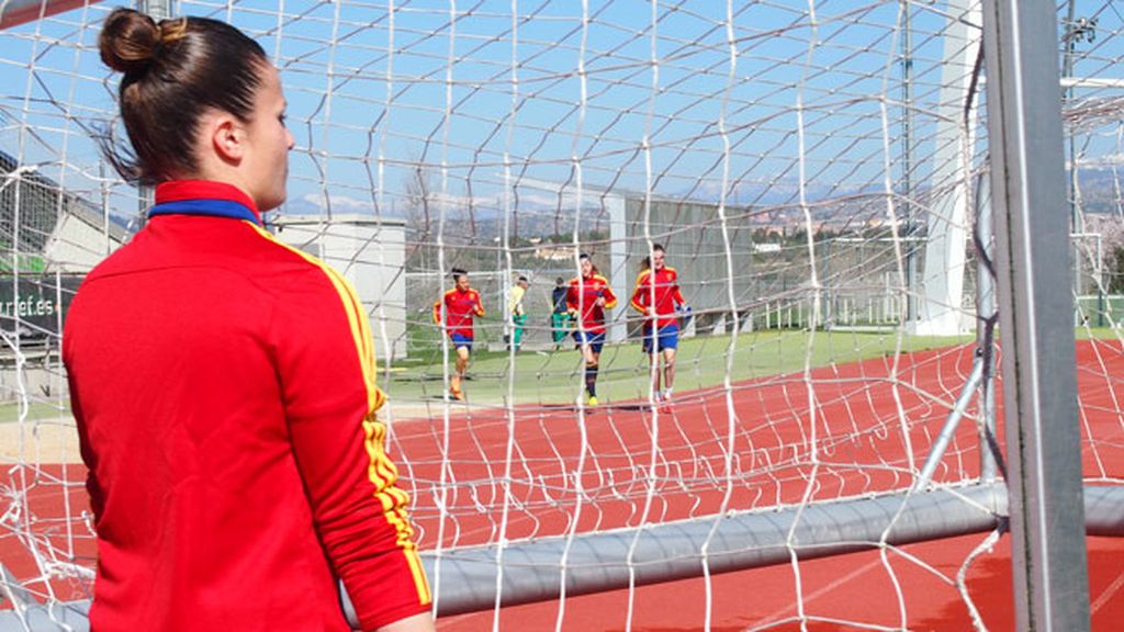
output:
<path id="1" fill-rule="evenodd" d="M 128 214 L 129 189 L 99 180 L 105 170 L 87 132 L 106 125 L 114 108 L 117 78 L 94 51 L 112 6 L 0 31 L 0 145 L 46 163 L 44 171 L 57 171 L 65 153 L 73 168 L 56 173 L 64 183 L 100 195 L 108 188 L 115 210 Z M 510 0 L 459 1 L 455 12 L 447 0 L 396 1 L 393 16 L 389 6 L 176 6 L 245 29 L 281 67 L 298 144 L 289 211 L 332 200 L 334 211 L 372 213 L 381 200 L 381 213 L 399 213 L 423 163 L 446 199 L 487 213 L 502 199 L 505 153 L 516 177 L 572 181 L 577 159 L 586 186 L 705 199 L 719 195 L 728 159 L 732 199 L 778 204 L 799 182 L 798 103 L 809 190 L 880 190 L 887 162 L 900 181 L 898 2 L 819 1 L 815 19 L 807 2 L 734 2 L 732 76 L 723 2 L 656 3 L 654 26 L 653 4 L 635 0 L 590 1 L 588 22 L 580 2 L 519 1 L 514 25 Z M 1095 15 L 1102 29 L 1082 46 L 1079 72 L 1117 73 L 1104 61 L 1120 48 L 1116 10 L 1080 2 L 1078 13 Z M 923 182 L 946 17 L 942 2 L 918 2 L 913 15 L 913 162 Z M 1112 154 L 1113 143 L 1098 141 L 1094 151 Z M 540 197 L 550 198 L 520 191 L 520 210 L 536 211 Z"/>

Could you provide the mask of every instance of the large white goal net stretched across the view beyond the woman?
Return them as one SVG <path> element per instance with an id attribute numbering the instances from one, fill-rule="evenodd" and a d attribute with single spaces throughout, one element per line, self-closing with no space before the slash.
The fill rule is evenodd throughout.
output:
<path id="1" fill-rule="evenodd" d="M 48 630 L 92 598 L 96 565 L 60 333 L 148 198 L 97 150 L 121 133 L 97 53 L 112 7 L 15 4 L 0 608 Z M 1078 24 L 1061 4 L 1085 478 L 1114 489 L 1124 17 L 1078 2 Z M 978 2 L 148 7 L 229 21 L 280 70 L 296 146 L 266 223 L 368 309 L 436 611 L 477 613 L 452 629 L 1003 629 Z M 690 308 L 670 398 L 629 305 L 656 245 Z M 616 299 L 596 403 L 574 344 L 590 325 L 555 294 L 581 254 Z M 433 317 L 454 268 L 487 312 L 464 401 Z M 871 590 L 882 605 L 853 606 Z"/>

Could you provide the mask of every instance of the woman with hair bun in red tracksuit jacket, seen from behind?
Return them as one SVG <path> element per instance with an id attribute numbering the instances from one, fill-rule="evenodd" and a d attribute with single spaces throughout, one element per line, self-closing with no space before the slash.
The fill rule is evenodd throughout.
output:
<path id="1" fill-rule="evenodd" d="M 292 136 L 237 29 L 112 11 L 128 180 L 147 225 L 82 283 L 63 356 L 98 534 L 91 628 L 433 630 L 348 283 L 275 241 Z"/>

